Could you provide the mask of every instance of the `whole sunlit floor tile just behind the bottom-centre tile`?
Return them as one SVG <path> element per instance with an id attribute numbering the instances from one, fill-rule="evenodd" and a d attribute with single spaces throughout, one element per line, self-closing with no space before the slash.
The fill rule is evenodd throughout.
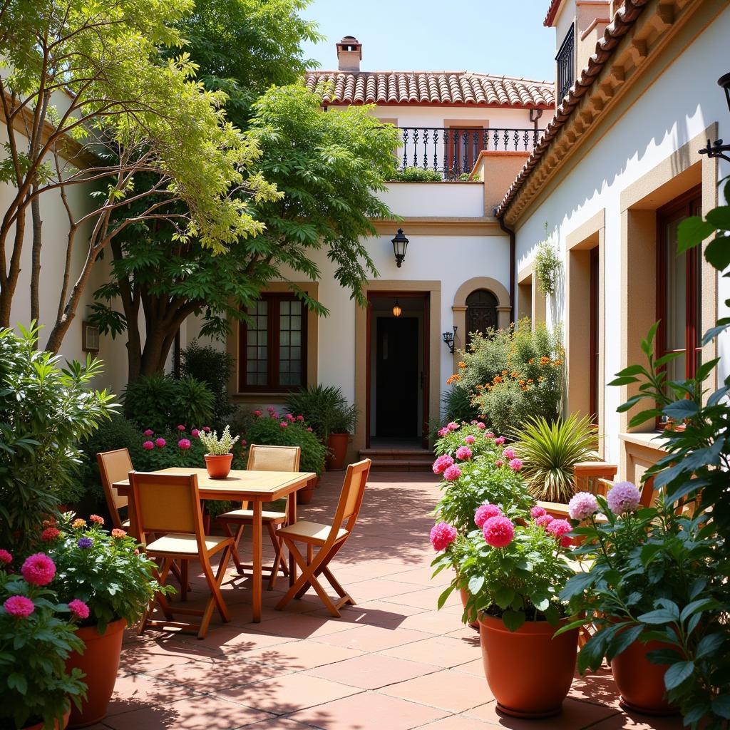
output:
<path id="1" fill-rule="evenodd" d="M 438 671 L 432 664 L 396 659 L 382 654 L 364 654 L 337 664 L 318 666 L 305 672 L 361 689 L 377 689 Z"/>

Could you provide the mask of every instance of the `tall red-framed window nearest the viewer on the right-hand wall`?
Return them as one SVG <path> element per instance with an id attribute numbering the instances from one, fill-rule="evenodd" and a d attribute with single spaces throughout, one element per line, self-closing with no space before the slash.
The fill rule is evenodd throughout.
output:
<path id="1" fill-rule="evenodd" d="M 677 254 L 680 223 L 701 212 L 699 188 L 657 211 L 656 356 L 678 353 L 666 364 L 668 380 L 694 377 L 702 358 L 702 253 L 695 247 Z"/>

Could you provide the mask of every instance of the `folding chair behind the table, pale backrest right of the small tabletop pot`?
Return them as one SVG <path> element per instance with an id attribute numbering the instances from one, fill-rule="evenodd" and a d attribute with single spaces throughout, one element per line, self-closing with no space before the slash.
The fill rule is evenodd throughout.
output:
<path id="1" fill-rule="evenodd" d="M 299 472 L 300 457 L 301 447 L 299 446 L 261 446 L 252 444 L 248 451 L 246 469 L 258 472 Z M 233 559 L 239 575 L 245 575 L 245 569 L 252 568 L 250 565 L 243 564 L 238 555 L 238 543 L 243 530 L 246 526 L 253 525 L 253 510 L 249 510 L 247 507 L 248 502 L 242 502 L 240 510 L 231 510 L 218 516 L 223 531 L 228 537 L 234 538 Z M 280 568 L 284 575 L 289 575 L 289 569 L 281 556 L 281 540 L 277 537 L 278 529 L 286 522 L 286 513 L 264 510 L 261 512 L 261 520 L 266 526 L 274 546 L 274 564 L 270 567 L 264 566 L 264 569 L 269 571 L 269 591 L 271 591 L 276 585 Z M 231 533 L 231 525 L 237 526 L 235 536 Z"/>

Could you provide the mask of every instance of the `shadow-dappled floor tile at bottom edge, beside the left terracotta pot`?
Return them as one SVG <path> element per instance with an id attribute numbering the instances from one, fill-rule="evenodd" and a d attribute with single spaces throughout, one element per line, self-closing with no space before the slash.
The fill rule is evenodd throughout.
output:
<path id="1" fill-rule="evenodd" d="M 145 704 L 139 710 L 105 718 L 104 725 L 113 730 L 233 730 L 271 717 L 220 697 L 200 695 L 172 704 Z"/>

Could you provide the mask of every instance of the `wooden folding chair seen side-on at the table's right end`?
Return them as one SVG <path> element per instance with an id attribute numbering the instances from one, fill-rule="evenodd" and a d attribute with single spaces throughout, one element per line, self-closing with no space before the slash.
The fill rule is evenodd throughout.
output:
<path id="1" fill-rule="evenodd" d="M 328 565 L 352 534 L 362 506 L 370 464 L 372 464 L 372 461 L 366 458 L 363 461 L 358 461 L 357 464 L 347 466 L 345 483 L 342 485 L 342 493 L 339 496 L 339 503 L 331 525 L 297 520 L 293 525 L 288 525 L 278 531 L 277 534 L 283 539 L 296 564 L 301 568 L 301 575 L 280 602 L 277 603 L 277 610 L 282 610 L 291 599 L 304 596 L 310 585 L 315 589 L 317 595 L 333 616 L 339 618 L 339 609 L 345 604 L 355 605 L 352 596 L 342 588 L 342 585 L 339 585 Z M 304 545 L 307 545 L 306 558 L 297 550 L 297 542 L 303 542 Z M 314 554 L 314 548 L 319 548 L 316 555 Z M 331 602 L 326 591 L 317 580 L 322 574 L 339 595 L 339 601 L 336 604 Z"/>

